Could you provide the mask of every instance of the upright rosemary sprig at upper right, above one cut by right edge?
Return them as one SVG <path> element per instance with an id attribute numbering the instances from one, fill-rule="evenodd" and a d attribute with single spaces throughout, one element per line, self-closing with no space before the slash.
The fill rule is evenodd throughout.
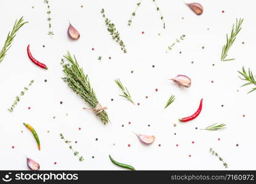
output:
<path id="1" fill-rule="evenodd" d="M 233 59 L 226 59 L 226 56 L 228 56 L 228 50 L 230 50 L 231 45 L 233 45 L 234 40 L 236 40 L 236 36 L 238 35 L 239 31 L 241 30 L 242 26 L 242 21 L 244 19 L 239 18 L 239 20 L 236 18 L 236 27 L 234 28 L 234 24 L 232 26 L 232 31 L 230 34 L 230 37 L 228 37 L 228 34 L 226 34 L 226 45 L 223 45 L 222 47 L 222 56 L 221 60 L 222 61 L 231 61 Z"/>

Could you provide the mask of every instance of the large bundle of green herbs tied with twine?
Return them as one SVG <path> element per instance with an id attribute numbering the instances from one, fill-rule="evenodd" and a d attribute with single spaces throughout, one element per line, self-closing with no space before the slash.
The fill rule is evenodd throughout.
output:
<path id="1" fill-rule="evenodd" d="M 63 81 L 68 83 L 68 86 L 75 93 L 79 94 L 82 99 L 89 103 L 90 107 L 92 107 L 90 110 L 100 117 L 104 124 L 108 123 L 108 114 L 105 112 L 106 107 L 102 107 L 98 102 L 94 90 L 90 86 L 88 75 L 84 75 L 84 71 L 79 66 L 78 61 L 76 61 L 76 57 L 72 57 L 70 52 L 68 52 L 64 55 L 64 58 L 70 63 L 67 64 L 62 59 L 63 72 L 66 75 L 66 77 L 62 78 Z"/>

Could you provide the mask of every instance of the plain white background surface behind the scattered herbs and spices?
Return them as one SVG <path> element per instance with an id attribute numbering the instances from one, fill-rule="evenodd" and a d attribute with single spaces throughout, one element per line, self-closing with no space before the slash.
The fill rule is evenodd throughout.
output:
<path id="1" fill-rule="evenodd" d="M 151 0 L 143 0 L 132 26 L 127 26 L 137 2 L 50 0 L 55 34 L 50 39 L 44 1 L 1 0 L 1 47 L 16 19 L 24 16 L 29 23 L 18 31 L 0 64 L 0 169 L 26 170 L 26 156 L 37 161 L 42 170 L 122 169 L 111 163 L 109 154 L 138 170 L 225 169 L 218 158 L 210 155 L 210 147 L 222 156 L 228 169 L 256 169 L 256 92 L 247 94 L 253 86 L 239 88 L 243 82 L 237 72 L 245 66 L 256 74 L 255 1 L 197 1 L 204 7 L 204 13 L 197 16 L 183 1 L 159 0 L 166 29 L 162 28 Z M 119 30 L 126 54 L 106 31 L 100 14 L 102 8 Z M 240 17 L 244 18 L 241 32 L 228 52 L 228 58 L 236 59 L 222 62 L 220 55 L 226 33 L 230 34 L 231 26 Z M 68 20 L 81 34 L 77 41 L 68 39 Z M 166 54 L 167 45 L 182 34 L 186 35 L 185 40 Z M 49 67 L 47 71 L 28 59 L 28 44 L 33 56 Z M 83 110 L 87 104 L 62 81 L 60 61 L 67 50 L 76 55 L 89 75 L 98 101 L 108 106 L 109 125 L 103 125 L 91 112 Z M 98 56 L 102 56 L 102 61 L 97 60 Z M 167 80 L 178 74 L 192 79 L 190 88 L 178 88 Z M 118 78 L 134 101 L 140 102 L 139 106 L 118 96 L 121 92 L 114 83 Z M 15 96 L 32 79 L 34 84 L 14 112 L 9 113 L 7 109 Z M 163 111 L 171 94 L 176 99 Z M 199 117 L 179 123 L 178 118 L 194 113 L 201 98 L 204 102 Z M 41 151 L 24 122 L 38 132 Z M 214 123 L 225 123 L 227 128 L 215 132 L 200 130 Z M 153 134 L 156 140 L 152 145 L 143 145 L 133 132 Z M 60 139 L 60 133 L 84 156 L 83 162 L 73 156 Z"/>

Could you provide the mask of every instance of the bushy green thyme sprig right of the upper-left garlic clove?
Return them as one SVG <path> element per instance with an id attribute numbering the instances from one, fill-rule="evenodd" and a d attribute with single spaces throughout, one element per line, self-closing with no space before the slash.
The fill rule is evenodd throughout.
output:
<path id="1" fill-rule="evenodd" d="M 102 17 L 105 18 L 105 24 L 106 24 L 106 27 L 108 28 L 108 32 L 110 32 L 110 35 L 112 36 L 112 39 L 116 41 L 120 45 L 121 50 L 124 53 L 126 53 L 127 52 L 126 46 L 124 45 L 124 42 L 121 40 L 119 32 L 114 27 L 114 24 L 111 23 L 108 18 L 106 18 L 104 9 L 102 9 L 101 13 L 102 13 Z"/>

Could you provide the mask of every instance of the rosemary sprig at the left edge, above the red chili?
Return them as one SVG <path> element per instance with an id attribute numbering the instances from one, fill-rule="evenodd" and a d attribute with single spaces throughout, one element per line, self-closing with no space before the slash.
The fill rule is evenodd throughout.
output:
<path id="1" fill-rule="evenodd" d="M 14 37 L 16 36 L 16 33 L 18 29 L 20 29 L 23 25 L 28 23 L 28 21 L 23 22 L 23 17 L 20 18 L 20 20 L 15 20 L 14 27 L 12 28 L 12 31 L 9 31 L 6 42 L 4 42 L 4 47 L 2 47 L 2 50 L 0 52 L 0 63 L 4 59 L 4 56 L 6 56 L 7 50 L 12 46 L 12 41 L 14 40 Z"/>

